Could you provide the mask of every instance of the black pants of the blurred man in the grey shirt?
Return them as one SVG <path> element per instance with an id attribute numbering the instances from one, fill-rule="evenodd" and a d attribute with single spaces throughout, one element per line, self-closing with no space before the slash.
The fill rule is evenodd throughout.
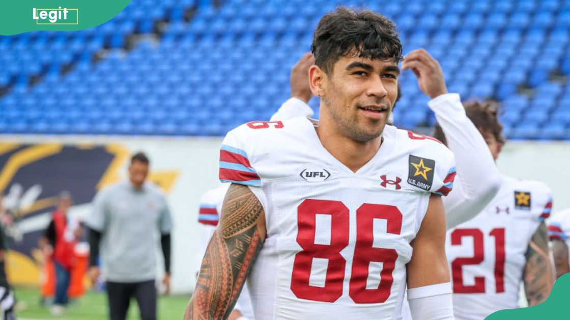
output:
<path id="1" fill-rule="evenodd" d="M 125 320 L 127 318 L 131 297 L 135 297 L 139 304 L 141 320 L 156 320 L 154 280 L 143 282 L 107 281 L 109 318 L 111 320 Z"/>

